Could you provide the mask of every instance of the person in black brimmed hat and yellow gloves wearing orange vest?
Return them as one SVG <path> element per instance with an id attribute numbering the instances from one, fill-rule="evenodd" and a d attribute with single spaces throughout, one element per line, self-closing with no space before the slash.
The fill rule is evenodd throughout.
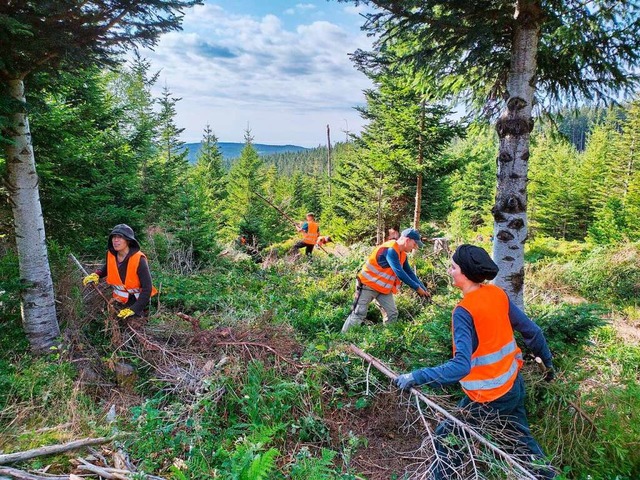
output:
<path id="1" fill-rule="evenodd" d="M 147 257 L 133 229 L 124 223 L 116 225 L 107 241 L 107 261 L 94 273 L 87 275 L 83 285 L 97 284 L 100 278 L 113 287 L 113 298 L 120 305 L 119 318 L 142 317 L 149 299 L 157 293 L 151 282 Z"/>

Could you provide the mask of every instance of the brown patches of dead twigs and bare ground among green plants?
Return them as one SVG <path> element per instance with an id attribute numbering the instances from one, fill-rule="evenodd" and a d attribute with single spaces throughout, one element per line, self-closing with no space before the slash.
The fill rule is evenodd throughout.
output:
<path id="1" fill-rule="evenodd" d="M 156 380 L 172 384 L 175 391 L 183 396 L 185 390 L 187 393 L 197 392 L 201 388 L 199 383 L 210 376 L 214 368 L 224 368 L 229 357 L 240 360 L 240 364 L 235 363 L 233 367 L 240 370 L 246 369 L 246 364 L 251 361 L 273 361 L 283 369 L 282 373 L 290 376 L 300 374 L 305 368 L 313 368 L 313 365 L 305 365 L 298 360 L 304 347 L 295 340 L 294 332 L 286 325 L 203 330 L 198 319 L 182 313 L 171 317 L 165 315 L 162 324 L 156 323 L 148 328 L 140 323 L 118 323 L 119 341 L 124 342 L 121 348 L 128 345 L 128 350 L 132 351 L 135 344 L 133 350 L 136 355 L 155 367 Z M 189 327 L 185 329 L 187 324 Z M 86 351 L 82 352 L 82 357 L 86 357 Z M 183 381 L 184 368 L 167 369 L 168 364 L 162 360 L 167 357 L 174 367 L 189 365 L 191 385 Z M 83 367 L 88 364 L 83 364 L 82 358 L 78 360 L 80 377 L 86 377 Z M 95 380 L 94 374 L 89 376 Z M 92 383 L 87 382 L 86 387 L 91 388 Z M 132 407 L 143 403 L 144 398 L 136 393 L 135 383 L 122 377 L 118 378 L 118 383 L 117 386 L 100 389 L 95 398 L 105 405 L 105 409 L 115 407 L 119 415 L 126 416 Z M 333 445 L 340 445 L 345 435 L 366 439 L 350 459 L 349 468 L 370 480 L 402 478 L 412 464 L 424 461 L 419 453 L 424 435 L 413 425 L 415 416 L 412 418 L 411 408 L 401 401 L 398 390 L 391 385 L 388 387 L 372 396 L 367 408 L 327 408 L 324 417 L 319 419 L 328 427 Z M 184 397 L 185 401 L 189 401 L 187 397 L 189 395 Z M 334 400 L 331 392 L 327 392 L 326 405 Z"/>

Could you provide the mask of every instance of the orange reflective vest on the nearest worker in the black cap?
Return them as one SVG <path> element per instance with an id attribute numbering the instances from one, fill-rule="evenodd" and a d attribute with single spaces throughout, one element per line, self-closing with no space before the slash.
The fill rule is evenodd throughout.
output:
<path id="1" fill-rule="evenodd" d="M 523 363 L 509 320 L 509 297 L 501 288 L 484 284 L 458 305 L 471 314 L 478 335 L 471 371 L 460 385 L 474 402 L 497 400 L 511 390 Z"/>

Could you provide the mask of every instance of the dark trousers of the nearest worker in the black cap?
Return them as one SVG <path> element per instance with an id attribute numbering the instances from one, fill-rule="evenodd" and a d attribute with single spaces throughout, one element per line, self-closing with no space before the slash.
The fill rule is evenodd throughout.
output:
<path id="1" fill-rule="evenodd" d="M 507 453 L 513 454 L 525 462 L 534 461 L 541 464 L 542 466 L 535 470 L 531 468 L 532 473 L 535 473 L 538 478 L 554 478 L 555 472 L 551 467 L 544 466 L 546 463 L 544 461 L 545 455 L 529 430 L 524 399 L 524 380 L 518 373 L 511 390 L 497 400 L 478 403 L 465 396 L 458 403 L 458 407 L 464 409 L 464 420 L 472 426 L 480 426 L 483 422 L 496 422 L 499 425 L 504 425 L 510 436 L 517 439 L 516 445 L 505 448 Z M 456 433 L 456 430 L 457 427 L 450 420 L 445 420 L 436 428 L 435 444 L 440 461 L 434 466 L 432 477 L 434 480 L 460 478 L 461 472 L 455 472 L 455 469 L 463 463 L 464 459 L 455 447 L 449 446 L 451 442 L 447 440 L 447 437 Z"/>

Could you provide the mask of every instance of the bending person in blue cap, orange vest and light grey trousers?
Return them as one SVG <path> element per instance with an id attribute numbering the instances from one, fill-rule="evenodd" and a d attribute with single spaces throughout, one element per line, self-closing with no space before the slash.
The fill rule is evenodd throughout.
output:
<path id="1" fill-rule="evenodd" d="M 423 246 L 420 233 L 414 228 L 407 228 L 398 240 L 389 240 L 373 249 L 356 277 L 356 295 L 342 333 L 362 323 L 371 302 L 382 310 L 384 323 L 395 322 L 398 309 L 393 295 L 401 283 L 409 285 L 421 297 L 430 297 L 407 260 L 407 253 Z"/>

